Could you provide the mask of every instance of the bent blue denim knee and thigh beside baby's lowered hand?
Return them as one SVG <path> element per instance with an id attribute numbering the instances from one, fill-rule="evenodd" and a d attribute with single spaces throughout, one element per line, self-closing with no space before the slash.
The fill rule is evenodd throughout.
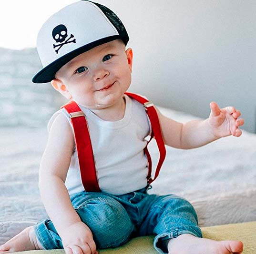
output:
<path id="1" fill-rule="evenodd" d="M 123 205 L 109 195 L 88 193 L 72 203 L 82 222 L 91 229 L 99 249 L 124 244 L 135 230 Z"/>

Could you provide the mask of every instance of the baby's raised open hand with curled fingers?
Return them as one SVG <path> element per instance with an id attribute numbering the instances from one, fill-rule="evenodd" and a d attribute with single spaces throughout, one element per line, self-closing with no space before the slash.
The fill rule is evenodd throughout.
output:
<path id="1" fill-rule="evenodd" d="M 211 114 L 209 116 L 208 124 L 212 129 L 215 137 L 226 137 L 233 135 L 239 137 L 242 135 L 242 131 L 239 126 L 244 124 L 244 119 L 238 117 L 241 116 L 239 110 L 235 107 L 219 108 L 217 103 L 210 103 Z"/>

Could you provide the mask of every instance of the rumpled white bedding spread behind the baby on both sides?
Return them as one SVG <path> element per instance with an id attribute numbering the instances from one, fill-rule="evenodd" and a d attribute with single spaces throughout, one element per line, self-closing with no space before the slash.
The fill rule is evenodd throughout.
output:
<path id="1" fill-rule="evenodd" d="M 181 122 L 195 119 L 160 109 Z M 0 128 L 0 244 L 47 217 L 37 186 L 46 140 L 46 127 Z M 155 164 L 153 144 L 150 150 Z M 239 138 L 225 137 L 192 150 L 167 147 L 150 192 L 185 197 L 201 226 L 256 220 L 256 135 L 244 131 Z"/>

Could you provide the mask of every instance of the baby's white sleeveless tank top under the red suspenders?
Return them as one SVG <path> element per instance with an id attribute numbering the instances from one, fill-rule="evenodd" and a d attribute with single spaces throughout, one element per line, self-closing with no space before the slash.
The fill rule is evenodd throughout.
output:
<path id="1" fill-rule="evenodd" d="M 118 121 L 104 121 L 90 109 L 79 105 L 88 122 L 96 174 L 102 192 L 122 195 L 147 185 L 148 160 L 144 154 L 145 137 L 151 133 L 150 120 L 143 105 L 124 95 L 125 113 Z M 49 120 L 48 131 L 62 108 Z M 77 151 L 72 154 L 65 185 L 69 194 L 84 191 Z"/>

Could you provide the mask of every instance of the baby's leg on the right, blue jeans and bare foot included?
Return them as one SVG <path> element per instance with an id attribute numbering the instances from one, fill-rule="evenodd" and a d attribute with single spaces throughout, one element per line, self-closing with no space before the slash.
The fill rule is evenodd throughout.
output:
<path id="1" fill-rule="evenodd" d="M 195 209 L 175 195 L 159 196 L 154 201 L 141 230 L 145 234 L 156 234 L 154 247 L 159 253 L 230 254 L 243 250 L 241 242 L 202 238 Z"/>

